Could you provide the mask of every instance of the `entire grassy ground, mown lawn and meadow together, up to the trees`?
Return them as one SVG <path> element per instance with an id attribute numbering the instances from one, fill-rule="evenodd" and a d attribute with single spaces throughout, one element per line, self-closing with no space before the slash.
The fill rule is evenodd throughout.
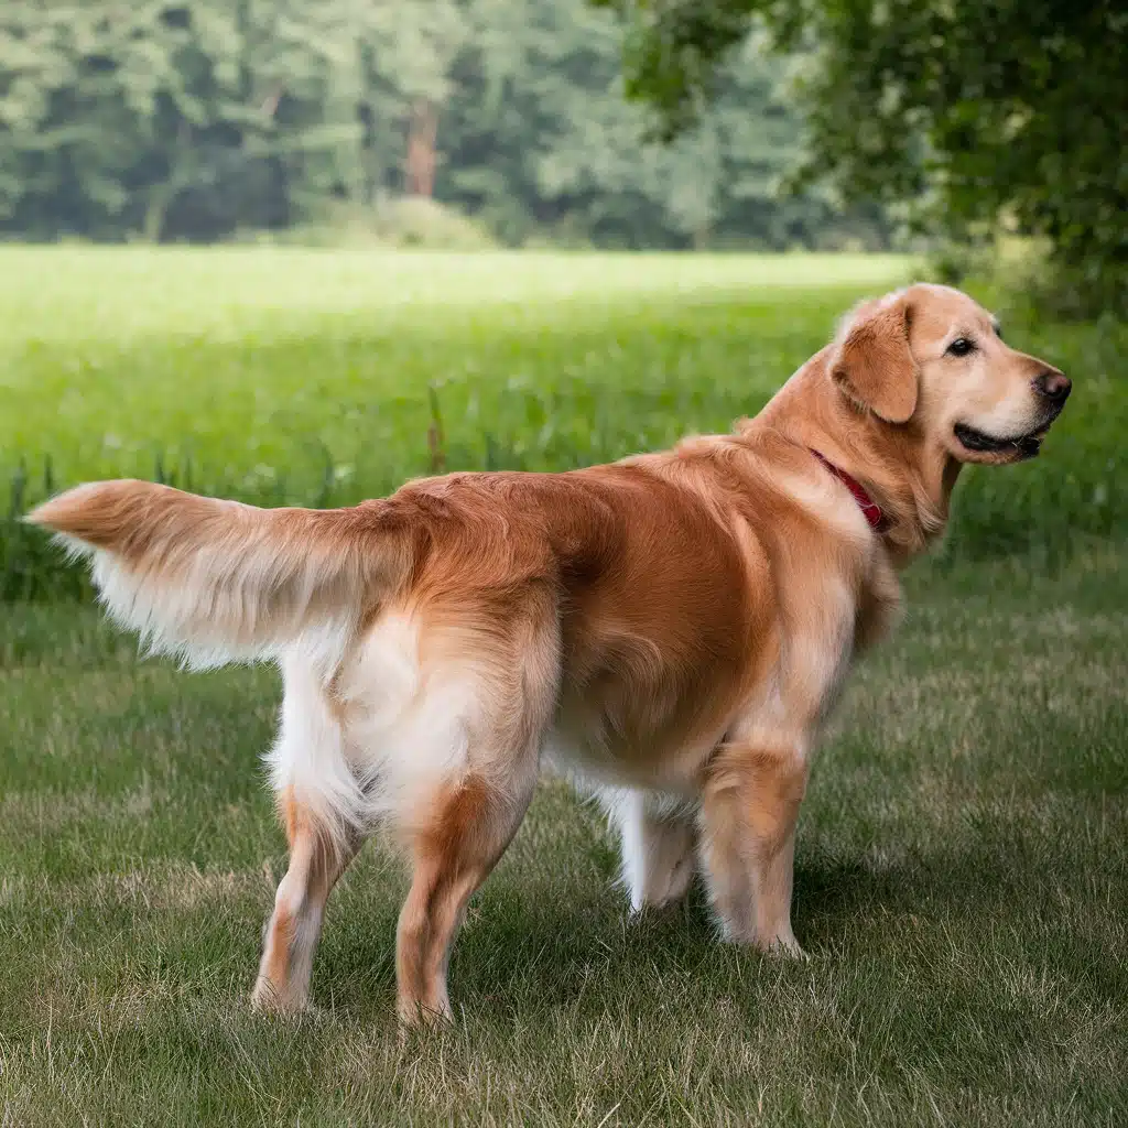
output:
<path id="1" fill-rule="evenodd" d="M 347 501 L 426 469 L 431 385 L 452 465 L 615 457 L 754 412 L 907 272 L 5 248 L 0 467 L 24 500 L 50 455 L 59 483 L 159 456 Z M 546 784 L 456 951 L 456 1028 L 406 1041 L 378 846 L 331 902 L 320 1012 L 246 1005 L 284 867 L 275 673 L 138 662 L 6 526 L 0 1125 L 1128 1122 L 1125 332 L 1008 336 L 1076 391 L 1041 459 L 969 475 L 857 671 L 800 825 L 811 959 L 716 944 L 699 893 L 628 924 L 600 818 Z"/>

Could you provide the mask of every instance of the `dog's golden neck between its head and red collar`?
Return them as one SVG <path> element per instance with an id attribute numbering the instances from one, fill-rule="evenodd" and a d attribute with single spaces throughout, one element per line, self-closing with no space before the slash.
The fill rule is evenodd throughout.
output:
<path id="1" fill-rule="evenodd" d="M 884 515 L 880 536 L 906 564 L 943 534 L 960 464 L 916 421 L 893 426 L 848 402 L 830 379 L 829 354 L 816 353 L 743 431 L 770 429 L 860 482 Z"/>

